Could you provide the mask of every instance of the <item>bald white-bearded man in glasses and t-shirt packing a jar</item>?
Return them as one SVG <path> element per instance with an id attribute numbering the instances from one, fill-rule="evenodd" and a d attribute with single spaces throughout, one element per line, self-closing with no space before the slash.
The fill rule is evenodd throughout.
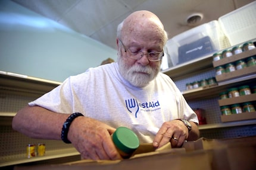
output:
<path id="1" fill-rule="evenodd" d="M 156 148 L 198 139 L 196 114 L 160 72 L 166 41 L 155 14 L 133 12 L 117 28 L 117 62 L 70 76 L 29 102 L 13 118 L 13 129 L 33 138 L 62 139 L 93 160 L 121 159 L 111 140 L 120 126 Z"/>

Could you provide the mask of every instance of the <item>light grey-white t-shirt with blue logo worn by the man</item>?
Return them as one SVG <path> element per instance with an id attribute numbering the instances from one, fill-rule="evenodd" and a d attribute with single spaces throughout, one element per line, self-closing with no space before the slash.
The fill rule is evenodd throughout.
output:
<path id="1" fill-rule="evenodd" d="M 115 128 L 128 127 L 142 143 L 151 143 L 165 121 L 185 118 L 198 123 L 196 114 L 167 75 L 160 72 L 149 85 L 137 88 L 120 75 L 117 63 L 70 76 L 29 105 L 58 113 L 79 112 Z"/>

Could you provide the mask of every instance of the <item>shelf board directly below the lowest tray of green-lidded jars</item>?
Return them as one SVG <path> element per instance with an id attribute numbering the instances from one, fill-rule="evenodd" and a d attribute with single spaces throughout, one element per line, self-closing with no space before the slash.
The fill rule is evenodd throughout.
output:
<path id="1" fill-rule="evenodd" d="M 233 127 L 233 126 L 246 126 L 246 125 L 255 125 L 256 119 L 254 120 L 242 120 L 242 121 L 230 121 L 225 123 L 214 123 L 214 124 L 202 124 L 198 126 L 199 130 L 208 130 L 208 129 L 217 129 L 224 127 Z"/>

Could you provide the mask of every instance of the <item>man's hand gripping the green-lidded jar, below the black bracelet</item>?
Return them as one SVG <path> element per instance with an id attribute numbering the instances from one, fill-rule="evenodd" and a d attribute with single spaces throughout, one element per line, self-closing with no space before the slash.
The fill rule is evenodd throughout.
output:
<path id="1" fill-rule="evenodd" d="M 80 116 L 71 123 L 68 140 L 81 153 L 83 159 L 121 159 L 110 136 L 114 131 L 107 124 Z"/>

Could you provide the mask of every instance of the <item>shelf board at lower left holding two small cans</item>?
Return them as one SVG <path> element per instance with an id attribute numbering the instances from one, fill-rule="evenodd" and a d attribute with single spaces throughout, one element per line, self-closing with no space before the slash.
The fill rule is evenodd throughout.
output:
<path id="1" fill-rule="evenodd" d="M 25 155 L 25 154 L 24 154 Z M 62 149 L 61 151 L 51 150 L 46 151 L 45 156 L 35 156 L 34 158 L 15 158 L 0 161 L 0 167 L 18 165 L 21 163 L 45 161 L 49 159 L 64 158 L 68 156 L 80 155 L 75 148 Z"/>

